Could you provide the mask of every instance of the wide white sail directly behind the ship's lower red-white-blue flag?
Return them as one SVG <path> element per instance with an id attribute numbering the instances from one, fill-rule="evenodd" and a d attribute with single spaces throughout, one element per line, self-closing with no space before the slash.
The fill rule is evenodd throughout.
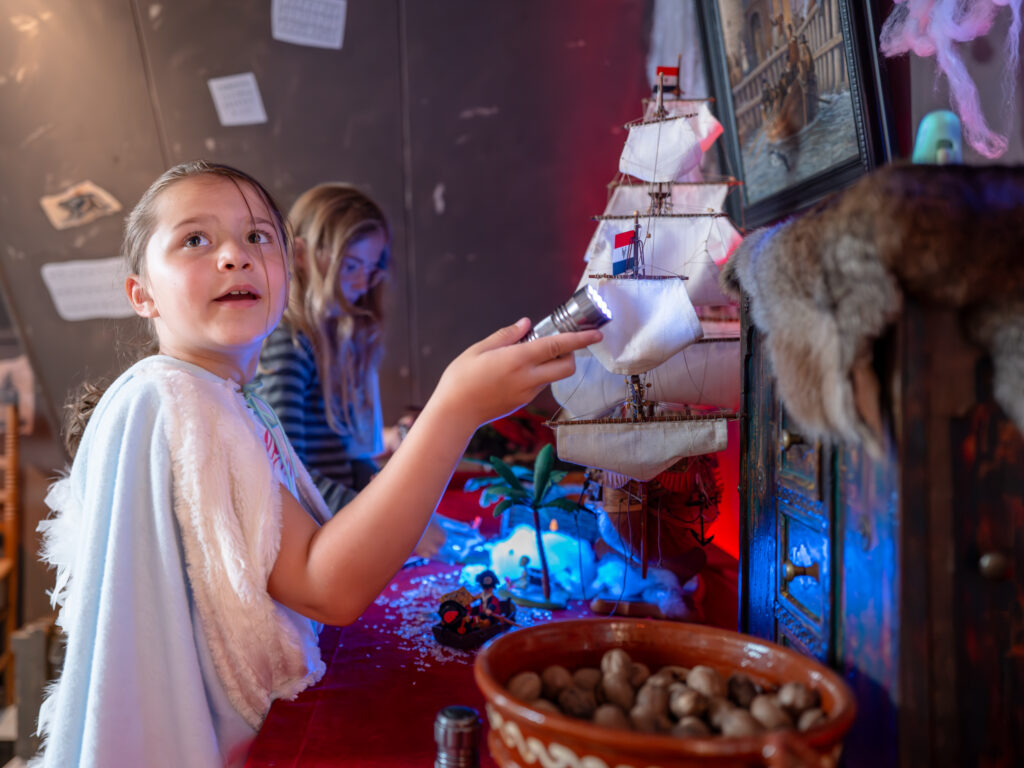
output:
<path id="1" fill-rule="evenodd" d="M 587 251 L 588 269 L 580 285 L 593 273 L 611 273 L 615 234 L 633 227 L 630 216 L 605 218 Z M 649 237 L 648 237 L 649 236 Z M 742 240 L 726 216 L 656 215 L 640 218 L 640 242 L 646 273 L 686 278 L 686 291 L 694 306 L 731 304 L 718 287 L 719 264 Z"/>

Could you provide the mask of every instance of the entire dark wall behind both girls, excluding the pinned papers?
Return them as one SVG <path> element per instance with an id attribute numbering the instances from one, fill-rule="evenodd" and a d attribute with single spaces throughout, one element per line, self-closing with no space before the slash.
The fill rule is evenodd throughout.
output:
<path id="1" fill-rule="evenodd" d="M 136 325 L 56 317 L 39 267 L 113 255 L 121 217 L 56 231 L 41 195 L 91 178 L 130 208 L 196 157 L 285 207 L 322 180 L 365 187 L 395 236 L 393 417 L 467 344 L 567 297 L 647 88 L 651 0 L 349 0 L 341 50 L 274 41 L 269 2 L 8 5 L 29 20 L 0 27 L 0 274 L 51 410 L 118 369 L 114 331 Z M 242 72 L 268 122 L 220 126 L 207 80 Z"/>

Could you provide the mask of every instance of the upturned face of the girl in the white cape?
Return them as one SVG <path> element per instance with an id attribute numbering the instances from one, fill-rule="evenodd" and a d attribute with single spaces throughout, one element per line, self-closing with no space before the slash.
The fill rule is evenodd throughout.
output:
<path id="1" fill-rule="evenodd" d="M 213 175 L 172 184 L 155 213 L 146 274 L 126 284 L 135 311 L 153 318 L 164 354 L 250 378 L 287 301 L 272 214 L 249 184 Z"/>

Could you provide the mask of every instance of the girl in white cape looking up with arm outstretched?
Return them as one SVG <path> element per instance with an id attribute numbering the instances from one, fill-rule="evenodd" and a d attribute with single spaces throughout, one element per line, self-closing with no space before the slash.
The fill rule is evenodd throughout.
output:
<path id="1" fill-rule="evenodd" d="M 270 196 L 224 166 L 177 166 L 129 215 L 123 254 L 160 351 L 102 395 L 47 498 L 68 645 L 42 763 L 241 765 L 270 701 L 323 674 L 316 623 L 348 624 L 375 599 L 473 431 L 569 375 L 569 353 L 600 334 L 517 344 L 522 319 L 471 346 L 331 517 L 251 385 L 288 297 Z"/>

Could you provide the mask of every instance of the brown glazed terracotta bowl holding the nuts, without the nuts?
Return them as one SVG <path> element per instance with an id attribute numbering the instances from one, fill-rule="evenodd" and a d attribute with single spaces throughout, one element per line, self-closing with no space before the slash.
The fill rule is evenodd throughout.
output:
<path id="1" fill-rule="evenodd" d="M 599 728 L 552 715 L 512 698 L 505 684 L 520 672 L 550 665 L 597 667 L 611 648 L 623 648 L 651 672 L 665 665 L 713 667 L 728 677 L 741 671 L 755 682 L 801 682 L 821 695 L 827 720 L 804 733 L 676 738 Z M 835 765 L 856 711 L 843 679 L 812 658 L 750 635 L 678 622 L 582 618 L 514 630 L 483 646 L 474 668 L 486 699 L 490 756 L 503 768 Z"/>

